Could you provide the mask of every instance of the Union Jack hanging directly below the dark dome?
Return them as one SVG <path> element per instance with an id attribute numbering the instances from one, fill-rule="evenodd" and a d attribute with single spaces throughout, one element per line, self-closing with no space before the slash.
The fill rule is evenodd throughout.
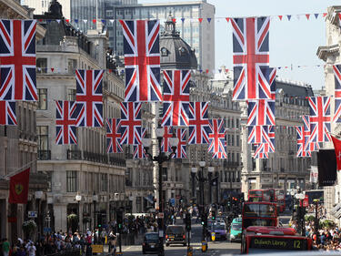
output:
<path id="1" fill-rule="evenodd" d="M 188 126 L 189 70 L 164 70 L 162 126 Z"/>

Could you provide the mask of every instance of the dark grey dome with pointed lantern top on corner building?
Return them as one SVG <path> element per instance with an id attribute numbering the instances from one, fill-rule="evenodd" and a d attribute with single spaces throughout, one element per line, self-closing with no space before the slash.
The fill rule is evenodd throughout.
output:
<path id="1" fill-rule="evenodd" d="M 161 69 L 196 69 L 195 50 L 176 31 L 176 23 L 169 14 L 165 31 L 160 36 Z"/>

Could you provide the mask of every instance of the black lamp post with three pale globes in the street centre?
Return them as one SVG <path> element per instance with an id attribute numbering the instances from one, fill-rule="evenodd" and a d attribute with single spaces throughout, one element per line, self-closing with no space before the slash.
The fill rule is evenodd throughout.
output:
<path id="1" fill-rule="evenodd" d="M 172 148 L 171 154 L 168 156 L 164 153 L 161 152 L 161 143 L 162 139 L 164 138 L 164 133 L 165 129 L 162 128 L 160 125 L 158 128 L 155 129 L 155 134 L 158 142 L 158 155 L 157 156 L 152 156 L 149 152 L 148 149 L 152 144 L 151 138 L 143 138 L 142 139 L 142 144 L 145 148 L 145 154 L 149 159 L 152 161 L 157 162 L 158 164 L 158 207 L 159 207 L 159 214 L 158 214 L 158 227 L 159 227 L 159 240 L 161 244 L 161 250 L 159 251 L 158 255 L 164 255 L 165 250 L 164 250 L 164 228 L 165 228 L 165 219 L 164 219 L 164 210 L 165 210 L 165 199 L 163 198 L 162 195 L 162 164 L 165 161 L 168 161 L 172 159 L 173 155 L 176 154 L 176 147 L 179 143 L 179 139 L 173 135 L 172 138 L 168 138 L 168 142 Z"/>

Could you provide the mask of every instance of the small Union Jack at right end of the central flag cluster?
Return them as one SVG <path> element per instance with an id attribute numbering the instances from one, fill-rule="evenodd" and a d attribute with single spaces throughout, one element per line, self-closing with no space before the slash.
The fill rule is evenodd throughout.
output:
<path id="1" fill-rule="evenodd" d="M 208 152 L 213 153 L 213 159 L 227 159 L 225 150 L 226 130 L 223 119 L 210 119 L 209 128 L 211 133 L 209 137 Z"/>

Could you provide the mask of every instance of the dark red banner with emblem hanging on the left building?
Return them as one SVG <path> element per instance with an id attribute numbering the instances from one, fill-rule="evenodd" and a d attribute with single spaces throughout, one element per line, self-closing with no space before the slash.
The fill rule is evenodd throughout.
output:
<path id="1" fill-rule="evenodd" d="M 9 203 L 27 203 L 29 178 L 29 168 L 10 178 Z"/>

